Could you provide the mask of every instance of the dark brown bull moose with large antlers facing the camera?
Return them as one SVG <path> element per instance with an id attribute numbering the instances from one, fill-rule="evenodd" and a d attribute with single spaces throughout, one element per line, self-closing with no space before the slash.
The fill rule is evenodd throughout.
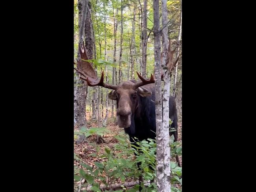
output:
<path id="1" fill-rule="evenodd" d="M 88 86 L 101 86 L 112 89 L 112 91 L 108 93 L 108 97 L 117 102 L 118 126 L 124 128 L 124 131 L 129 135 L 131 142 L 134 142 L 134 140 L 141 141 L 147 138 L 154 139 L 156 137 L 154 76 L 151 74 L 150 79 L 145 79 L 137 72 L 141 81 L 130 80 L 124 81 L 117 86 L 109 85 L 104 83 L 104 71 L 102 72 L 100 80 L 98 80 L 93 66 L 86 61 L 88 60 L 88 56 L 84 44 L 83 50 L 84 52 L 82 52 L 82 48 L 79 46 L 79 52 L 82 59 L 78 60 L 78 69 L 76 70 L 81 74 L 80 78 L 87 82 Z M 177 60 L 174 62 L 177 62 Z M 161 78 L 163 79 L 163 74 Z M 173 96 L 170 96 L 169 99 L 169 118 L 172 120 L 171 127 L 174 127 L 176 130 L 170 132 L 170 136 L 173 134 L 174 141 L 177 141 L 178 119 L 176 103 Z M 137 139 L 135 139 L 135 137 Z M 176 156 L 176 161 L 180 166 L 178 156 Z M 140 165 L 141 163 L 137 164 L 138 168 L 140 168 Z M 142 177 L 139 178 L 139 181 L 141 183 Z"/>

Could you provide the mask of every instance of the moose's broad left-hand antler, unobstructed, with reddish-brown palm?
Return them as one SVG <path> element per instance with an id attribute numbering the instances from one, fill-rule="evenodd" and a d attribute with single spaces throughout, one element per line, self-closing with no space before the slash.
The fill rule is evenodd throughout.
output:
<path id="1" fill-rule="evenodd" d="M 104 71 L 102 71 L 101 78 L 100 80 L 98 80 L 96 76 L 96 72 L 93 69 L 93 66 L 88 61 L 85 61 L 85 60 L 88 60 L 88 56 L 86 53 L 86 48 L 84 46 L 84 43 L 83 43 L 84 52 L 82 52 L 82 49 L 80 46 L 78 46 L 78 49 L 81 55 L 81 59 L 77 60 L 78 70 L 76 68 L 75 69 L 79 74 L 81 74 L 80 78 L 85 80 L 87 82 L 87 85 L 90 87 L 94 87 L 98 85 L 101 87 L 106 87 L 108 89 L 116 90 L 117 86 L 104 83 Z"/>

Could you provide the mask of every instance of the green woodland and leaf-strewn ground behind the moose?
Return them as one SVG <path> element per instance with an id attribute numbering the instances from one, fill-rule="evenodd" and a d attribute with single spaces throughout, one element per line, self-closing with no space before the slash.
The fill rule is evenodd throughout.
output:
<path id="1" fill-rule="evenodd" d="M 136 72 L 145 78 L 154 73 L 154 35 L 153 1 L 146 0 L 85 0 L 87 13 L 85 20 L 85 46 L 91 63 L 98 77 L 104 71 L 104 80 L 109 84 L 118 85 L 122 81 L 137 79 Z M 78 55 L 79 23 L 83 0 L 74 0 L 74 58 Z M 161 2 L 160 2 L 161 4 Z M 161 5 L 160 5 L 161 7 Z M 171 95 L 176 99 L 178 111 L 179 144 L 174 144 L 173 153 L 181 155 L 182 133 L 182 6 L 181 1 L 168 0 L 167 31 L 171 47 L 179 60 L 171 72 Z M 161 8 L 160 8 L 161 21 Z M 160 22 L 161 23 L 161 22 Z M 160 25 L 162 28 L 163 26 Z M 74 191 L 92 189 L 97 191 L 103 183 L 118 185 L 124 182 L 136 182 L 139 174 L 134 164 L 128 166 L 132 158 L 127 136 L 116 123 L 116 103 L 108 99 L 110 90 L 102 87 L 88 87 L 74 70 Z M 91 130 L 91 131 L 89 131 Z M 80 142 L 80 141 L 83 142 Z M 122 144 L 122 145 L 121 145 Z M 145 143 L 146 144 L 146 143 Z M 143 150 L 152 150 L 154 146 Z M 143 146 L 142 146 L 143 148 Z M 177 151 L 177 149 L 179 149 Z M 118 165 L 108 164 L 110 158 L 121 164 L 122 172 L 115 172 Z M 123 157 L 121 160 L 120 157 Z M 125 158 L 126 160 L 124 160 Z M 142 158 L 142 157 L 141 157 Z M 147 157 L 144 157 L 147 159 Z M 148 157 L 149 158 L 149 157 Z M 104 160 L 105 159 L 105 160 Z M 106 161 L 108 159 L 108 161 Z M 130 159 L 131 160 L 131 159 Z M 151 159 L 152 160 L 152 159 Z M 149 161 L 151 161 L 149 158 Z M 127 162 L 126 162 L 127 161 Z M 96 163 L 95 163 L 96 162 Z M 135 161 L 132 161 L 135 162 Z M 144 176 L 150 177 L 145 161 Z M 99 164 L 100 163 L 100 164 Z M 117 163 L 118 164 L 118 163 Z M 110 166 L 108 169 L 107 167 Z M 111 169 L 111 166 L 113 166 Z M 174 165 L 173 165 L 174 166 Z M 182 181 L 181 169 L 173 167 L 173 191 L 180 191 Z M 126 169 L 132 175 L 126 173 Z M 95 171 L 98 172 L 95 173 Z M 92 172 L 92 173 L 89 173 Z M 112 175 L 111 175 L 112 173 Z M 92 176 L 95 175 L 95 176 Z M 100 175 L 100 176 L 99 176 Z M 106 176 L 107 175 L 107 176 Z M 111 175 L 111 176 L 109 176 Z M 106 179 L 107 178 L 107 179 Z M 111 180 L 111 181 L 109 181 Z M 135 185 L 135 184 L 134 184 Z M 119 185 L 120 188 L 121 185 Z M 126 185 L 126 190 L 131 190 Z M 122 187 L 121 187 L 122 188 Z M 112 188 L 114 189 L 114 188 Z M 118 189 L 118 187 L 117 187 Z M 149 186 L 148 191 L 156 187 Z M 145 191 L 147 191 L 145 189 Z M 100 190 L 102 191 L 102 190 Z"/>

